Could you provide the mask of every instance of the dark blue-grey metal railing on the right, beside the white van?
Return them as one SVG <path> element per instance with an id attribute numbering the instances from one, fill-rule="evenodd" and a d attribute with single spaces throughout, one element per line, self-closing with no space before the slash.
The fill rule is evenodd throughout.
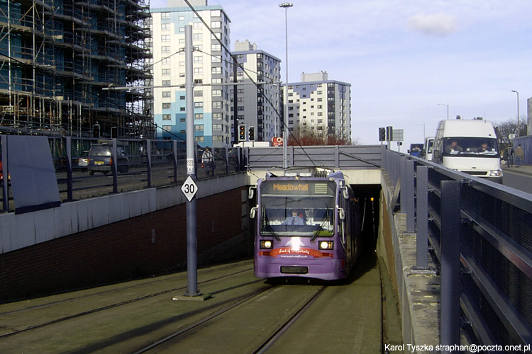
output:
<path id="1" fill-rule="evenodd" d="M 397 152 L 383 166 L 416 232 L 417 268 L 429 255 L 439 267 L 440 343 L 459 345 L 464 328 L 480 345 L 530 346 L 532 195 Z"/>

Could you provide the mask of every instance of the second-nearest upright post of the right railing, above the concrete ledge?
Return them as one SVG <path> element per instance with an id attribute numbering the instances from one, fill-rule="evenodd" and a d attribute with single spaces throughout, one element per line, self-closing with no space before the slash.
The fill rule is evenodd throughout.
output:
<path id="1" fill-rule="evenodd" d="M 416 177 L 416 266 L 428 267 L 428 166 L 417 166 Z"/>

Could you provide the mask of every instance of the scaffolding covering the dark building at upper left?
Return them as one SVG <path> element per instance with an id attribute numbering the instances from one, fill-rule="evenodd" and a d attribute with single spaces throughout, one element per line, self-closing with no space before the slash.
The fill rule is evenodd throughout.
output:
<path id="1" fill-rule="evenodd" d="M 0 132 L 152 137 L 149 26 L 149 0 L 0 0 Z"/>

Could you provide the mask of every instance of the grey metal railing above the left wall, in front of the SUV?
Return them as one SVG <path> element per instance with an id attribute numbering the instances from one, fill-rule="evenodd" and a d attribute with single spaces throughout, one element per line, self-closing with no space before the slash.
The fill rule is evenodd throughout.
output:
<path id="1" fill-rule="evenodd" d="M 187 178 L 184 143 L 176 140 L 49 137 L 48 142 L 62 202 L 172 185 L 182 183 Z M 122 171 L 111 168 L 107 173 L 89 173 L 87 165 L 79 165 L 79 159 L 95 143 L 110 144 L 115 156 L 116 149 L 120 147 L 125 154 L 122 164 L 126 165 L 121 167 L 125 168 Z M 7 144 L 6 136 L 2 138 L 2 144 Z M 197 179 L 243 171 L 245 164 L 241 148 L 211 150 L 211 161 L 202 163 L 205 149 L 197 145 L 195 147 Z M 2 211 L 15 210 L 10 183 L 1 185 Z"/>

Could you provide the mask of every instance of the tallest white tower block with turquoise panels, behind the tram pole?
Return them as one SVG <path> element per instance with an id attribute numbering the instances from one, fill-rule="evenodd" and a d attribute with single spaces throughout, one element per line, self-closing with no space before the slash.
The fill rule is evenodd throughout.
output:
<path id="1" fill-rule="evenodd" d="M 184 26 L 192 25 L 194 51 L 194 139 L 202 147 L 231 144 L 229 75 L 230 19 L 219 5 L 169 1 L 152 9 L 153 97 L 157 137 L 186 139 Z M 201 19 L 209 25 L 215 35 Z M 220 41 L 218 41 L 220 40 Z"/>

